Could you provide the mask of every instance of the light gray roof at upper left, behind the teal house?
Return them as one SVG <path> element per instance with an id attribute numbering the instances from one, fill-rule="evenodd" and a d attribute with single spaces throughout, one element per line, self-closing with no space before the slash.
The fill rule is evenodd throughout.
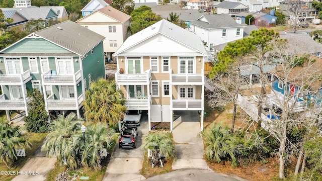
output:
<path id="1" fill-rule="evenodd" d="M 14 11 L 16 10 L 21 15 L 26 17 L 28 20 L 46 20 L 51 8 L 38 8 L 38 7 L 29 7 L 29 8 L 2 8 L 3 11 Z M 52 11 L 56 16 L 58 16 L 54 11 Z M 49 17 L 48 17 L 49 18 Z"/>

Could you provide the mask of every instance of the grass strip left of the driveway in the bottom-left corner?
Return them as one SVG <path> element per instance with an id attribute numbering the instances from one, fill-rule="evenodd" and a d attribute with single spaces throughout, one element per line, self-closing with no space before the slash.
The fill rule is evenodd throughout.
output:
<path id="1" fill-rule="evenodd" d="M 30 148 L 26 148 L 26 156 L 25 157 L 18 157 L 18 160 L 12 165 L 12 168 L 7 168 L 6 164 L 0 162 L 0 170 L 12 170 L 18 171 L 20 170 L 31 157 L 31 155 L 36 151 L 40 143 L 45 139 L 47 133 L 29 133 L 30 137 L 28 141 L 31 142 L 32 146 Z M 0 180 L 12 180 L 16 175 L 0 175 Z"/>

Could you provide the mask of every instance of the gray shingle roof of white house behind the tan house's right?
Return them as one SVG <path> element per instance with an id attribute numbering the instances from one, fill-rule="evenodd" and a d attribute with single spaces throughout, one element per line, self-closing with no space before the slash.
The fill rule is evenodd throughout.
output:
<path id="1" fill-rule="evenodd" d="M 236 23 L 234 19 L 228 14 L 221 15 L 203 15 L 203 17 L 208 21 L 201 21 L 200 17 L 196 21 L 191 21 L 190 24 L 200 26 L 203 28 L 228 28 L 228 27 L 243 27 Z"/>

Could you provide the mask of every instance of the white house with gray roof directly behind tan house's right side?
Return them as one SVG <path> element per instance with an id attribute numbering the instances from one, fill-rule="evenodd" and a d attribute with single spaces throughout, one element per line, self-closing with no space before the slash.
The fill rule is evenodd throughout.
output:
<path id="1" fill-rule="evenodd" d="M 244 26 L 228 14 L 203 15 L 190 22 L 190 29 L 207 43 L 208 51 L 213 51 L 215 45 L 241 39 L 244 34 Z"/>

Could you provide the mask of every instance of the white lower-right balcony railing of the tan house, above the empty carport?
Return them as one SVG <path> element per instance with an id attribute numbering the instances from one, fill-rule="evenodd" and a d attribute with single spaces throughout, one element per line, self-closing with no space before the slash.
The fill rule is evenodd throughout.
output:
<path id="1" fill-rule="evenodd" d="M 201 110 L 203 109 L 202 100 L 172 100 L 172 110 Z"/>

